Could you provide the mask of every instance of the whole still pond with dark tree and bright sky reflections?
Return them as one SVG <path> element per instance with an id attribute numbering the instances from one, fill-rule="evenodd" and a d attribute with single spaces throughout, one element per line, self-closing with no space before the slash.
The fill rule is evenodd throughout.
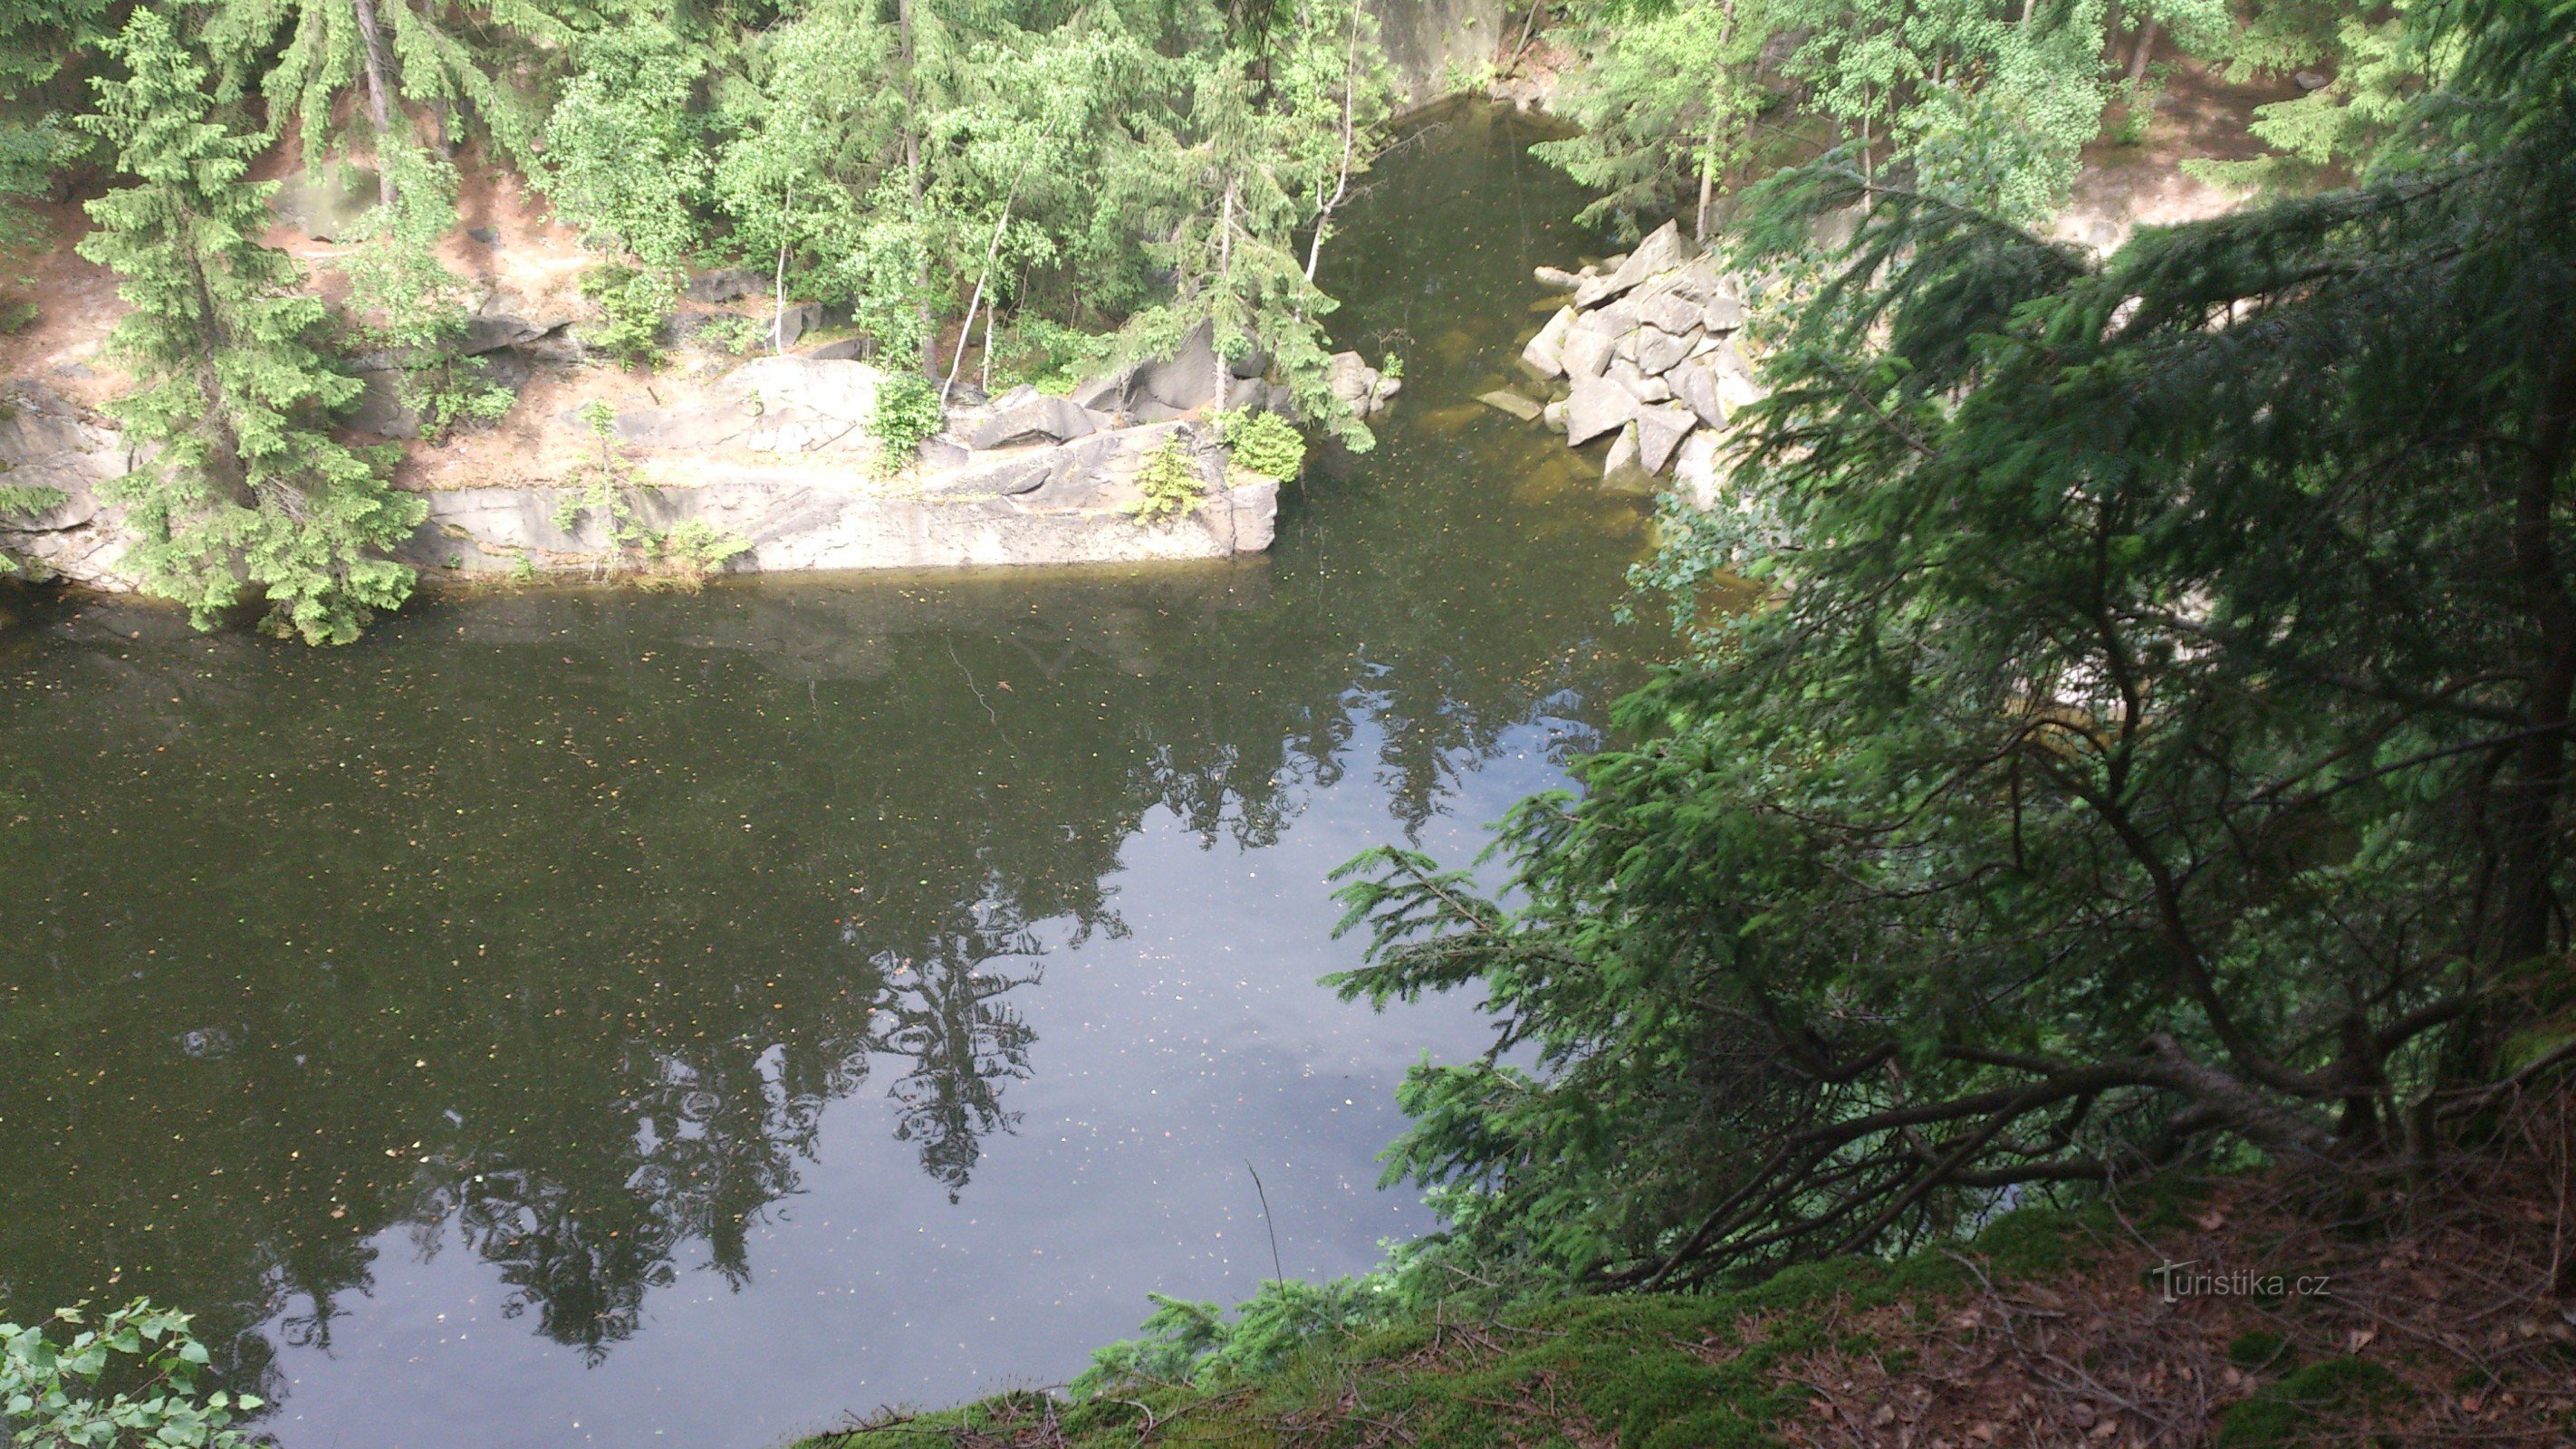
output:
<path id="1" fill-rule="evenodd" d="M 1476 401 L 1597 250 L 1533 139 L 1378 162 L 1401 404 L 1267 556 L 13 620 L 0 1318 L 185 1307 L 289 1449 L 757 1449 L 1249 1295 L 1249 1168 L 1288 1274 L 1425 1230 L 1394 1086 L 1489 1029 L 1321 991 L 1324 878 L 1473 854 L 1643 654 L 1649 510 Z"/>

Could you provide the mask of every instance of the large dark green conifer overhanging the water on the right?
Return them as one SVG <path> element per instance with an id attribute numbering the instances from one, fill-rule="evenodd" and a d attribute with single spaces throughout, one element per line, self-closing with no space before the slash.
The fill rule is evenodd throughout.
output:
<path id="1" fill-rule="evenodd" d="M 2576 5 L 2437 21 L 2450 93 L 2349 190 L 2097 263 L 1875 188 L 1749 515 L 1667 558 L 1767 597 L 1504 821 L 1517 906 L 1345 867 L 1345 993 L 1504 1024 L 1404 1089 L 1425 1251 L 1672 1287 L 2421 1163 L 2576 1053 Z M 1790 172 L 1752 245 L 1865 185 Z"/>

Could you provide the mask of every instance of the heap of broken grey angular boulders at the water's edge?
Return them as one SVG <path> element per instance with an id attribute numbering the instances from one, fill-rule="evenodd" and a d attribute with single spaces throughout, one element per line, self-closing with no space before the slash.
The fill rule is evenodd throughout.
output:
<path id="1" fill-rule="evenodd" d="M 1574 448 L 1613 438 L 1605 486 L 1651 492 L 1672 471 L 1708 507 L 1721 486 L 1718 435 L 1762 399 L 1744 353 L 1741 278 L 1692 257 L 1667 221 L 1625 257 L 1582 273 L 1538 268 L 1538 281 L 1574 291 L 1574 306 L 1520 353 L 1528 373 L 1566 383 L 1540 422 Z"/>

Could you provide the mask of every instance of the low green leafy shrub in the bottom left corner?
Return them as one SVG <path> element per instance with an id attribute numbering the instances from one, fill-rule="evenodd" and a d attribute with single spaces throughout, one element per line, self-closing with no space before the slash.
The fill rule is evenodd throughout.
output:
<path id="1" fill-rule="evenodd" d="M 46 1336 L 54 1331 L 54 1336 Z M 247 1449 L 258 1395 L 198 1392 L 211 1356 L 188 1315 L 137 1297 L 90 1323 L 0 1323 L 0 1426 L 26 1449 Z"/>

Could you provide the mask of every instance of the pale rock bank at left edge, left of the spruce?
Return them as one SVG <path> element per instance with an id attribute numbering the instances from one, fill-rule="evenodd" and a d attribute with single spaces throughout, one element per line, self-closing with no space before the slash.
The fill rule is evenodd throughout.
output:
<path id="1" fill-rule="evenodd" d="M 44 383 L 13 383 L 0 394 L 0 481 L 10 486 L 62 494 L 44 512 L 0 515 L 0 553 L 39 579 L 116 592 L 134 587 L 124 569 L 131 543 L 124 510 L 98 497 L 100 484 L 134 468 L 124 435 L 82 420 Z"/>

